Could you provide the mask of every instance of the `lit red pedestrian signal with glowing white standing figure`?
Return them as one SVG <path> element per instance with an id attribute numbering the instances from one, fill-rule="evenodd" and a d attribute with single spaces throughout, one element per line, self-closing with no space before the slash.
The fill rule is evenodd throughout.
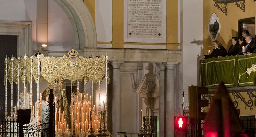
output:
<path id="1" fill-rule="evenodd" d="M 174 129 L 175 130 L 187 130 L 188 129 L 188 117 L 175 116 L 174 117 Z"/>

